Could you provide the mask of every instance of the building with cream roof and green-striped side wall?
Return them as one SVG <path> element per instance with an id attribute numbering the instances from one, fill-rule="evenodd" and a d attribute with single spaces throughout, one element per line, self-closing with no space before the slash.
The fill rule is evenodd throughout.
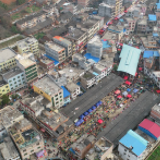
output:
<path id="1" fill-rule="evenodd" d="M 25 80 L 27 83 L 31 83 L 37 79 L 37 65 L 32 53 L 23 54 L 22 56 L 17 55 L 16 59 L 17 65 L 25 73 Z"/>

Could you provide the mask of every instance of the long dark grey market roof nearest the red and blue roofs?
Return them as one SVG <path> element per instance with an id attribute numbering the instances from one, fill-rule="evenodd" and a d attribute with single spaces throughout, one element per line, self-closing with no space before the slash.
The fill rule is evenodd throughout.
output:
<path id="1" fill-rule="evenodd" d="M 150 113 L 151 108 L 160 102 L 155 94 L 146 91 L 129 108 L 124 110 L 98 136 L 106 137 L 115 147 L 129 129 L 134 129 Z"/>

